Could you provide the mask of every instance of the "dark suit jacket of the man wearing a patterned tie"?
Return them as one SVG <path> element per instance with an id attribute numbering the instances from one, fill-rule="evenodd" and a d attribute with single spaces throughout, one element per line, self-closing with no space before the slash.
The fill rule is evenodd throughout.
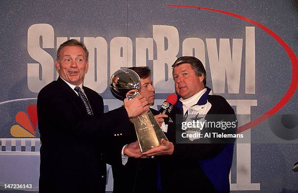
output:
<path id="1" fill-rule="evenodd" d="M 104 150 L 118 151 L 111 160 L 121 162 L 121 149 L 109 148 L 112 143 L 105 139 L 125 132 L 121 130 L 123 127 L 117 127 L 128 122 L 125 108 L 104 114 L 102 97 L 90 88 L 83 89 L 94 116 L 86 113 L 79 96 L 60 77 L 38 94 L 40 193 L 103 193 L 106 185 Z"/>

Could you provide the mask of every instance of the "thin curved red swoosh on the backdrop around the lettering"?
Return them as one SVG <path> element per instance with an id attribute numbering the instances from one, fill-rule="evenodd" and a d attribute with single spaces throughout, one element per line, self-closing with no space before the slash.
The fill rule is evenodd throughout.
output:
<path id="1" fill-rule="evenodd" d="M 218 13 L 222 13 L 222 14 L 225 14 L 225 15 L 233 16 L 235 18 L 242 19 L 242 20 L 244 20 L 248 23 L 251 23 L 255 26 L 258 26 L 259 28 L 264 30 L 267 34 L 271 35 L 274 39 L 276 39 L 279 42 L 279 44 L 283 47 L 283 49 L 288 53 L 289 58 L 290 58 L 291 63 L 292 63 L 292 81 L 291 81 L 290 87 L 288 88 L 287 92 L 284 94 L 284 96 L 280 99 L 280 101 L 275 106 L 273 106 L 270 110 L 265 112 L 263 115 L 261 115 L 260 117 L 252 120 L 249 123 L 246 123 L 246 124 L 238 127 L 237 133 L 241 133 L 242 131 L 245 131 L 249 128 L 252 128 L 252 127 L 262 123 L 263 121 L 268 119 L 270 116 L 275 114 L 277 111 L 279 111 L 279 109 L 283 105 L 288 103 L 288 101 L 291 99 L 291 97 L 295 93 L 296 88 L 298 86 L 298 60 L 297 60 L 297 57 L 296 57 L 295 53 L 293 52 L 293 50 L 283 41 L 283 39 L 281 39 L 279 37 L 279 35 L 275 34 L 269 28 L 261 25 L 260 23 L 254 21 L 250 18 L 245 18 L 241 15 L 234 14 L 234 13 L 231 13 L 231 12 L 222 11 L 222 10 L 219 10 L 219 9 L 211 9 L 211 8 L 206 8 L 206 7 L 197 7 L 197 6 L 188 6 L 188 5 L 168 5 L 168 7 L 187 7 L 187 8 L 205 9 L 205 10 L 208 10 L 208 11 L 218 12 Z"/>

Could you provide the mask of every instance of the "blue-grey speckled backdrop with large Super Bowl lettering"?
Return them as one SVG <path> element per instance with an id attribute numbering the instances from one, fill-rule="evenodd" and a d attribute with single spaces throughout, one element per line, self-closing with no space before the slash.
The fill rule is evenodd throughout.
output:
<path id="1" fill-rule="evenodd" d="M 108 87 L 111 74 L 131 66 L 152 70 L 157 108 L 174 92 L 170 66 L 182 55 L 203 61 L 207 86 L 246 115 L 240 125 L 281 101 L 235 145 L 230 187 L 235 193 L 298 191 L 291 169 L 298 161 L 297 0 L 1 0 L 0 7 L 0 192 L 9 191 L 7 184 L 32 185 L 12 193 L 38 191 L 37 94 L 57 78 L 56 49 L 69 38 L 90 51 L 84 85 L 104 98 L 106 111 L 121 105 Z M 112 191 L 110 167 L 107 172 Z"/>

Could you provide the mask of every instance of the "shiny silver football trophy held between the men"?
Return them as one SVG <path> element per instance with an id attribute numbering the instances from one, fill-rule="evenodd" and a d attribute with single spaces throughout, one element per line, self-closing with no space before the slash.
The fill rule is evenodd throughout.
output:
<path id="1" fill-rule="evenodd" d="M 128 100 L 138 96 L 141 89 L 141 79 L 139 75 L 130 69 L 117 70 L 110 79 L 112 93 L 120 100 Z M 129 92 L 136 89 L 136 92 Z M 137 138 L 142 152 L 146 152 L 153 147 L 161 145 L 160 140 L 168 140 L 162 129 L 156 122 L 150 109 L 132 119 Z"/>

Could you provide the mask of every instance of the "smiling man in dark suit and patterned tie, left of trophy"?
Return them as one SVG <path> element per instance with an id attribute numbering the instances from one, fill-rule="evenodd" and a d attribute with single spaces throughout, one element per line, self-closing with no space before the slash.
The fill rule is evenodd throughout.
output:
<path id="1" fill-rule="evenodd" d="M 37 98 L 42 143 L 39 192 L 104 193 L 105 151 L 116 152 L 109 154 L 111 160 L 121 162 L 122 148 L 105 139 L 127 132 L 129 118 L 144 112 L 148 102 L 141 95 L 104 114 L 102 97 L 83 86 L 88 51 L 75 39 L 60 45 L 56 69 L 59 78 L 42 88 Z M 124 152 L 140 157 L 140 150 L 130 144 Z"/>

